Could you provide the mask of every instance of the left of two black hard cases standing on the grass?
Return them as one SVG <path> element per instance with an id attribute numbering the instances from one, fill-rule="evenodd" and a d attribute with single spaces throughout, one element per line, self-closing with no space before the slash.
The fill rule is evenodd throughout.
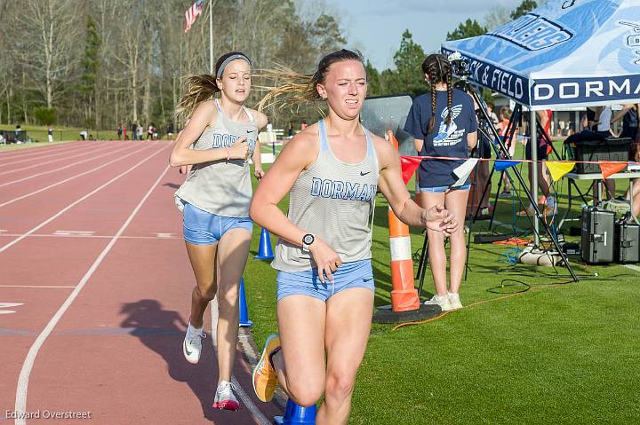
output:
<path id="1" fill-rule="evenodd" d="M 599 209 L 597 205 L 582 209 L 580 251 L 585 263 L 613 262 L 614 222 L 613 211 Z"/>

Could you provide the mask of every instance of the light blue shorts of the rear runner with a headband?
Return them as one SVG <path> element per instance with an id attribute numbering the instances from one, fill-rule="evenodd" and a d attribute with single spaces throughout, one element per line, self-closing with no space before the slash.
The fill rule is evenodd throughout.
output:
<path id="1" fill-rule="evenodd" d="M 249 217 L 216 216 L 202 209 L 197 209 L 188 202 L 184 203 L 182 212 L 182 230 L 188 243 L 194 245 L 214 245 L 222 235 L 231 229 L 245 229 L 253 232 L 253 222 Z"/>

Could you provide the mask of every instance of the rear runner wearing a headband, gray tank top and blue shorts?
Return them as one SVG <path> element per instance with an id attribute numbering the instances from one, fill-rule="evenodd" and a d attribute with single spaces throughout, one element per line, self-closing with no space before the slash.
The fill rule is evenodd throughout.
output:
<path id="1" fill-rule="evenodd" d="M 183 210 L 187 253 L 196 275 L 182 352 L 189 363 L 200 359 L 204 310 L 218 295 L 219 378 L 213 407 L 227 410 L 239 407 L 231 367 L 238 335 L 238 282 L 252 236 L 249 157 L 255 177 L 264 175 L 257 140 L 267 116 L 244 107 L 251 85 L 251 61 L 237 51 L 218 59 L 215 75 L 190 77 L 177 110 L 190 119 L 170 159 L 172 167 L 192 166 L 176 192 L 176 203 Z M 216 93 L 219 98 L 214 98 Z"/>

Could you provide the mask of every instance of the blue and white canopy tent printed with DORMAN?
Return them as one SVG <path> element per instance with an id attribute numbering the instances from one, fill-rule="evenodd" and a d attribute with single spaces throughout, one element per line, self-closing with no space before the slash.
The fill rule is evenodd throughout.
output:
<path id="1" fill-rule="evenodd" d="M 532 110 L 532 146 L 535 110 L 640 103 L 640 0 L 549 0 L 490 33 L 445 42 L 442 51 L 468 60 L 469 81 Z"/>

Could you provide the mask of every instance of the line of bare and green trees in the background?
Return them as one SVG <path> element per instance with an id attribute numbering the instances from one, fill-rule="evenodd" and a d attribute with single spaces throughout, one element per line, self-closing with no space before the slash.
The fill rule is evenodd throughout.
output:
<path id="1" fill-rule="evenodd" d="M 326 52 L 348 43 L 337 13 L 323 2 L 305 9 L 300 0 L 205 0 L 185 34 L 184 12 L 193 1 L 0 0 L 0 123 L 180 127 L 173 111 L 182 77 L 209 69 L 209 7 L 214 55 L 244 51 L 257 67 L 313 73 Z M 510 13 L 496 6 L 484 26 L 467 20 L 447 39 L 484 34 L 536 6 L 524 0 Z M 420 73 L 425 56 L 406 30 L 394 68 L 380 72 L 366 62 L 369 95 L 427 92 Z M 260 97 L 252 91 L 249 104 Z M 314 114 L 297 111 L 308 121 Z M 292 119 L 290 111 L 276 116 L 281 125 Z"/>

